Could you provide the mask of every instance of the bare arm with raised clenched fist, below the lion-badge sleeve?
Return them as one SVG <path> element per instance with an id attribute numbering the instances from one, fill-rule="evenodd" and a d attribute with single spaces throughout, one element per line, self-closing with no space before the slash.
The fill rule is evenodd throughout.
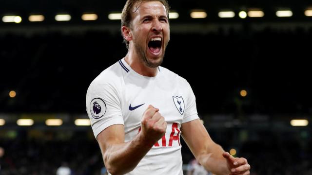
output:
<path id="1" fill-rule="evenodd" d="M 166 127 L 158 109 L 150 105 L 143 114 L 141 132 L 133 140 L 124 142 L 124 126 L 121 124 L 104 129 L 97 139 L 108 172 L 120 175 L 132 171 L 164 135 Z"/>

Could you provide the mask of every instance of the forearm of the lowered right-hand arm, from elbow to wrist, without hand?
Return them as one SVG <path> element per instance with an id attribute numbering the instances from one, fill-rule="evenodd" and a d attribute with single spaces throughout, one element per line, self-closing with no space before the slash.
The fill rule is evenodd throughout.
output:
<path id="1" fill-rule="evenodd" d="M 230 172 L 227 168 L 227 161 L 222 156 L 224 150 L 218 144 L 214 144 L 209 148 L 213 151 L 207 151 L 197 157 L 197 161 L 215 175 L 229 175 Z"/>

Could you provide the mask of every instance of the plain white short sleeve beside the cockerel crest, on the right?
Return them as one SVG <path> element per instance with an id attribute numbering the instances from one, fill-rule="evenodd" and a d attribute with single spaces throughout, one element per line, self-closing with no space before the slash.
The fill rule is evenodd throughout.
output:
<path id="1" fill-rule="evenodd" d="M 187 123 L 195 119 L 199 119 L 198 114 L 197 114 L 197 109 L 196 109 L 196 101 L 195 101 L 196 99 L 195 99 L 194 92 L 190 84 L 188 82 L 186 83 L 187 83 L 186 90 L 187 90 L 188 97 L 187 97 L 187 103 L 186 103 L 182 123 Z"/>

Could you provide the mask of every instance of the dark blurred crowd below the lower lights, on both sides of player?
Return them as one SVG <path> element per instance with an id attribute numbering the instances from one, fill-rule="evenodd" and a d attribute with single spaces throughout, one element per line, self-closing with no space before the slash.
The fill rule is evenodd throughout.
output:
<path id="1" fill-rule="evenodd" d="M 211 132 L 212 138 L 225 150 L 235 145 L 234 140 L 219 140 L 215 132 Z M 309 138 L 302 142 L 292 134 L 266 132 L 265 138 L 250 138 L 236 145 L 235 156 L 248 159 L 252 175 L 312 175 L 311 143 Z M 183 140 L 181 144 L 183 164 L 189 164 L 184 174 L 202 172 Z M 87 138 L 82 131 L 65 140 L 29 139 L 27 136 L 0 139 L 0 147 L 5 150 L 0 157 L 0 175 L 60 175 L 57 171 L 61 166 L 68 167 L 71 175 L 104 175 L 106 172 L 97 141 Z"/>

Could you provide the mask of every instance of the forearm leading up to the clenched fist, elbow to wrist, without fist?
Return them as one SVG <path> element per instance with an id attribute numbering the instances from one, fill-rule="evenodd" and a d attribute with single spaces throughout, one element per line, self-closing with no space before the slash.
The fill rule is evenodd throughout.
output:
<path id="1" fill-rule="evenodd" d="M 132 171 L 151 149 L 154 143 L 147 143 L 138 134 L 133 140 L 107 147 L 103 155 L 105 166 L 112 175 Z"/>

